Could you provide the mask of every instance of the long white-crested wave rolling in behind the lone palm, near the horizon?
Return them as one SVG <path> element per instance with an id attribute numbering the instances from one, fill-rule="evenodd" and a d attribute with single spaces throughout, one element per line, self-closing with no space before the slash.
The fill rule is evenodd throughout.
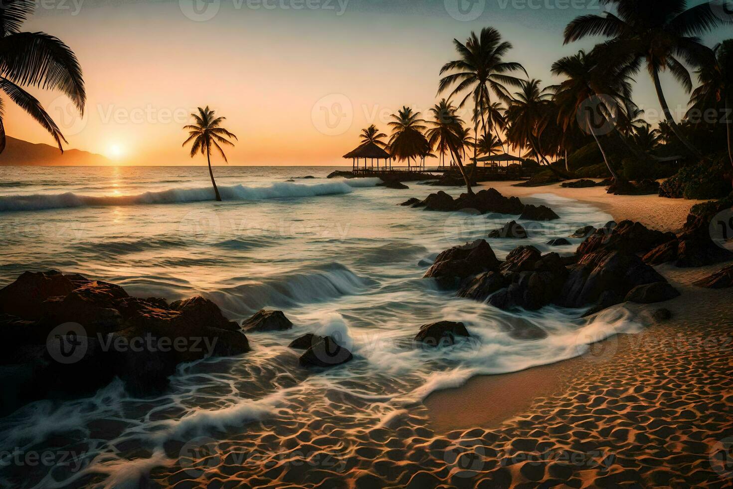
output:
<path id="1" fill-rule="evenodd" d="M 265 200 L 287 197 L 313 197 L 323 195 L 350 194 L 354 188 L 374 187 L 378 178 L 353 180 L 332 180 L 306 185 L 281 182 L 266 187 L 245 185 L 220 186 L 219 193 L 224 200 Z M 215 199 L 213 188 L 169 188 L 158 192 L 144 192 L 136 195 L 89 196 L 73 192 L 65 194 L 33 194 L 0 196 L 0 212 L 18 210 L 48 210 L 70 207 L 177 204 L 182 202 L 207 202 Z"/>

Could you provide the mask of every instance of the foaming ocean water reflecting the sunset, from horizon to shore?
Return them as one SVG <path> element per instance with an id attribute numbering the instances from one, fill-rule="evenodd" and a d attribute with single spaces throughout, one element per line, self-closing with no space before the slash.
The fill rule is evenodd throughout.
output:
<path id="1" fill-rule="evenodd" d="M 330 455 L 329 470 L 337 471 L 367 444 L 364 437 L 387 443 L 375 435 L 387 425 L 421 433 L 421 403 L 433 391 L 580 356 L 593 342 L 640 328 L 616 309 L 589 320 L 578 310 L 502 312 L 455 298 L 422 278 L 435 257 L 516 216 L 401 207 L 437 189 L 325 179 L 335 169 L 216 167 L 224 202 L 214 202 L 205 167 L 0 168 L 0 286 L 26 270 L 55 269 L 142 297 L 205 295 L 232 320 L 280 309 L 295 325 L 248 334 L 253 350 L 241 357 L 181 365 L 155 398 L 130 397 L 115 381 L 94 397 L 34 402 L 0 419 L 1 454 L 75 455 L 75 463 L 24 473 L 24 487 L 139 487 L 149 478 L 172 485 L 211 473 L 230 477 L 232 467 L 241 477 L 265 477 L 294 456 L 294 441 Z M 561 219 L 522 222 L 527 240 L 490 240 L 500 259 L 528 244 L 572 254 L 581 240 L 545 243 L 611 220 L 542 188 L 522 200 L 548 205 Z M 440 320 L 463 321 L 471 339 L 414 348 L 419 327 Z M 548 336 L 512 334 L 528 324 Z M 308 332 L 338 335 L 353 361 L 325 372 L 298 367 L 287 345 Z M 181 455 L 191 446 L 219 458 Z M 227 460 L 232 454 L 243 460 Z M 17 485 L 16 470 L 0 465 L 0 485 Z"/>

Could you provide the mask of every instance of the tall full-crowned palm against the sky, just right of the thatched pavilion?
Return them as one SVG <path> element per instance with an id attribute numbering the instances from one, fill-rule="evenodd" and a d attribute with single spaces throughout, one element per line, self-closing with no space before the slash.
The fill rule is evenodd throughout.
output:
<path id="1" fill-rule="evenodd" d="M 453 40 L 454 47 L 460 56 L 459 59 L 448 62 L 441 68 L 441 75 L 449 73 L 441 78 L 438 86 L 438 95 L 454 86 L 451 95 L 458 95 L 467 92 L 459 108 L 465 106 L 468 98 L 474 103 L 474 139 L 479 139 L 479 121 L 482 122 L 483 132 L 486 132 L 487 121 L 485 114 L 487 107 L 492 106 L 491 92 L 500 100 L 509 102 L 510 95 L 507 85 L 521 87 L 522 81 L 509 73 L 526 70 L 517 62 L 506 62 L 504 56 L 512 49 L 512 44 L 503 41 L 501 34 L 493 27 L 485 27 L 477 36 L 471 32 L 465 44 L 459 40 Z M 496 136 L 499 136 L 496 125 L 493 125 Z M 474 151 L 474 159 L 476 151 Z"/>

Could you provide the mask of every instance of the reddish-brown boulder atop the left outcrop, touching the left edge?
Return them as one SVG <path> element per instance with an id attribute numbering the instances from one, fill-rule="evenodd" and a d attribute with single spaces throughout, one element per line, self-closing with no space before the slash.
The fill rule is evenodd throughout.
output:
<path id="1" fill-rule="evenodd" d="M 0 290 L 0 312 L 38 319 L 43 315 L 41 304 L 46 299 L 66 296 L 77 287 L 69 277 L 57 271 L 24 272 Z"/>

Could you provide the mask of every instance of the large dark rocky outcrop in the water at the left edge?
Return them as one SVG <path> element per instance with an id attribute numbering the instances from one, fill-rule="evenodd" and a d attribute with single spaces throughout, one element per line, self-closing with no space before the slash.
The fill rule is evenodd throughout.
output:
<path id="1" fill-rule="evenodd" d="M 23 273 L 0 290 L 0 308 L 13 338 L 0 347 L 0 363 L 26 372 L 34 386 L 16 393 L 18 402 L 95 391 L 115 375 L 131 393 L 152 394 L 181 362 L 249 350 L 239 325 L 206 298 L 168 305 L 56 271 Z"/>

